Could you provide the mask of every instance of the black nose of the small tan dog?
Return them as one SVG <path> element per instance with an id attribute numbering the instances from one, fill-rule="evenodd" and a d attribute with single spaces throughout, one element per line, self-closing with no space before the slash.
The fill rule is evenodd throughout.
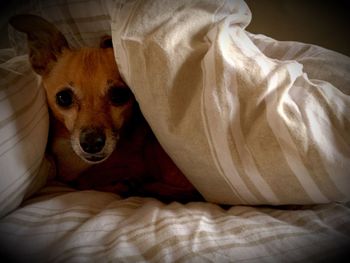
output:
<path id="1" fill-rule="evenodd" d="M 86 153 L 100 152 L 106 143 L 106 135 L 103 129 L 86 128 L 80 133 L 80 146 Z"/>

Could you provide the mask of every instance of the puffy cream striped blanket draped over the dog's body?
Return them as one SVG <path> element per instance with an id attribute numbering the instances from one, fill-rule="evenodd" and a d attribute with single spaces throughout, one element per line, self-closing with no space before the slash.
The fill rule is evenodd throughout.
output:
<path id="1" fill-rule="evenodd" d="M 243 1 L 128 1 L 112 23 L 119 68 L 207 200 L 349 200 L 350 59 L 251 35 L 250 19 Z"/>

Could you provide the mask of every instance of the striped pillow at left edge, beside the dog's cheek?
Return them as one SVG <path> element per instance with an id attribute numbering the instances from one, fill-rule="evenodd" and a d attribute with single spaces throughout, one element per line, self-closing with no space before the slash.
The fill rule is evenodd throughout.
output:
<path id="1" fill-rule="evenodd" d="M 0 52 L 0 56 L 4 52 Z M 44 90 L 27 56 L 0 65 L 0 216 L 43 186 L 48 111 Z"/>

